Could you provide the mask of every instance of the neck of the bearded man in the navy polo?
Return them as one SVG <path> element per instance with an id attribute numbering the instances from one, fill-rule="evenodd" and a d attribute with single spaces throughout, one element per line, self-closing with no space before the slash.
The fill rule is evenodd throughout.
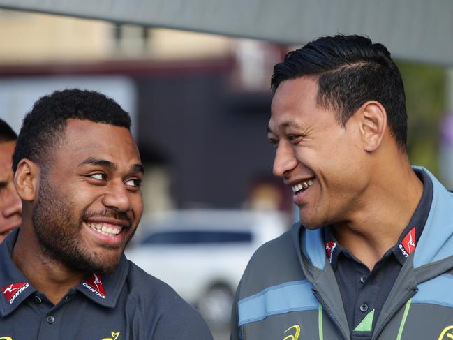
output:
<path id="1" fill-rule="evenodd" d="M 33 227 L 20 228 L 11 258 L 34 288 L 57 304 L 68 290 L 77 286 L 86 273 L 69 269 L 51 258 L 39 246 Z"/>

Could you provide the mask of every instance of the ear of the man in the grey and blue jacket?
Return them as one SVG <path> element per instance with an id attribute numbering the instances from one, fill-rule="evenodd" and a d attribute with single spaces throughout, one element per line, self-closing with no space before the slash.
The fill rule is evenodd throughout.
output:
<path id="1" fill-rule="evenodd" d="M 387 112 L 377 101 L 367 101 L 360 108 L 360 133 L 364 150 L 378 149 L 387 130 Z"/>

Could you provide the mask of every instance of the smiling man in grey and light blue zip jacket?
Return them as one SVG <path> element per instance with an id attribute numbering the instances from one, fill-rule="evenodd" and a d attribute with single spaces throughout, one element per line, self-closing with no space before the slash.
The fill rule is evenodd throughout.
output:
<path id="1" fill-rule="evenodd" d="M 274 67 L 272 90 L 274 175 L 300 221 L 248 263 L 231 339 L 452 338 L 453 194 L 410 165 L 387 48 L 319 38 Z"/>

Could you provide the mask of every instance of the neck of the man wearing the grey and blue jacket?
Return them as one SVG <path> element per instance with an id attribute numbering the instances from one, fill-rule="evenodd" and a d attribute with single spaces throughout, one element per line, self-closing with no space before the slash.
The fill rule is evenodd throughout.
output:
<path id="1" fill-rule="evenodd" d="M 423 183 L 410 167 L 381 175 L 371 184 L 364 206 L 348 223 L 334 225 L 336 239 L 373 269 L 401 236 L 422 197 Z"/>

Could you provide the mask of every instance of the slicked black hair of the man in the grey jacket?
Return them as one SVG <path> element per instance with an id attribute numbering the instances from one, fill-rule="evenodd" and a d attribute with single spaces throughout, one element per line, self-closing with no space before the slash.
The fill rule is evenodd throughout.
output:
<path id="1" fill-rule="evenodd" d="M 326 36 L 291 51 L 274 66 L 271 88 L 302 76 L 318 79 L 318 105 L 336 111 L 342 126 L 366 101 L 387 111 L 389 130 L 406 149 L 407 113 L 403 80 L 390 52 L 366 36 Z"/>

